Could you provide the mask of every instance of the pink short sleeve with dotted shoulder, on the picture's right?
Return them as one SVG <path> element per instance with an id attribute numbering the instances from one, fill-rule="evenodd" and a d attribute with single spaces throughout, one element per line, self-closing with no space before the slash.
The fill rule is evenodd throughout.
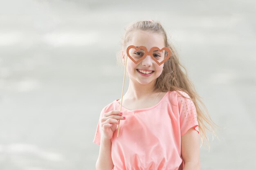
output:
<path id="1" fill-rule="evenodd" d="M 181 136 L 185 135 L 186 132 L 193 128 L 198 133 L 198 121 L 197 121 L 197 113 L 195 110 L 195 105 L 190 99 L 189 95 L 185 92 L 180 91 L 182 95 L 177 96 L 178 98 L 178 106 L 179 106 L 179 113 L 180 113 L 180 132 Z M 188 97 L 189 99 L 187 99 Z"/>

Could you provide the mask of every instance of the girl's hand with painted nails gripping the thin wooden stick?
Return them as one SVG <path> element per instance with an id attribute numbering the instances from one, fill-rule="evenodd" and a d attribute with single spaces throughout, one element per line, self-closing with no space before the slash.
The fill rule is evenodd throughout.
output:
<path id="1" fill-rule="evenodd" d="M 117 110 L 111 110 L 110 112 L 103 114 L 103 117 L 100 120 L 100 126 L 102 129 L 101 138 L 103 140 L 110 140 L 112 138 L 113 133 L 119 124 L 118 120 L 126 119 L 126 117 L 122 115 L 123 113 Z"/>

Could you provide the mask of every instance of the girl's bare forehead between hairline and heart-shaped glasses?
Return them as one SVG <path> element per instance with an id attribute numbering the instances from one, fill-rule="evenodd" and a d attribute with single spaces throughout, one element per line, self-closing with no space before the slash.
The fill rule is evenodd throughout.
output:
<path id="1" fill-rule="evenodd" d="M 157 46 L 158 48 L 165 47 L 164 36 L 159 33 L 138 30 L 133 31 L 130 36 L 128 46 L 145 46 L 148 50 L 154 46 Z"/>

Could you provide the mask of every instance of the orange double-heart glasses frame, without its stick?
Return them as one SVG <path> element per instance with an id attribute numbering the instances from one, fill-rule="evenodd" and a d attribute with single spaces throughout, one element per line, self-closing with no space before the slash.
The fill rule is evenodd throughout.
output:
<path id="1" fill-rule="evenodd" d="M 138 50 L 138 49 L 143 49 L 145 51 L 145 54 L 139 59 L 139 60 L 134 60 L 134 58 L 132 56 L 130 56 L 129 54 L 129 50 L 130 49 L 135 49 L 135 50 Z M 158 62 L 157 59 L 155 59 L 155 57 L 152 55 L 153 54 L 153 51 L 155 50 L 158 50 L 158 51 L 167 51 L 168 52 L 168 55 L 167 57 L 162 61 L 162 62 Z M 144 58 L 146 58 L 147 55 L 150 55 L 150 57 L 160 66 L 161 64 L 163 64 L 164 62 L 166 62 L 168 60 L 168 58 L 171 56 L 171 50 L 168 48 L 168 47 L 164 47 L 162 49 L 159 49 L 157 46 L 154 46 L 150 49 L 150 51 L 148 52 L 147 51 L 147 48 L 145 46 L 139 46 L 138 48 L 134 45 L 130 45 L 127 47 L 126 49 L 126 53 L 128 55 L 128 57 L 135 63 L 135 64 L 138 64 L 141 60 L 143 60 Z"/>

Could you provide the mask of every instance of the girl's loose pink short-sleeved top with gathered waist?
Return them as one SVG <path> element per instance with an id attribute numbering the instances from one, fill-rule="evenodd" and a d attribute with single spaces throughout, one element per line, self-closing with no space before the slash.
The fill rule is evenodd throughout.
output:
<path id="1" fill-rule="evenodd" d="M 180 91 L 186 97 L 186 93 Z M 170 98 L 170 100 L 169 100 Z M 120 110 L 114 100 L 101 111 Z M 176 91 L 167 92 L 150 108 L 121 110 L 126 120 L 120 121 L 112 137 L 113 170 L 182 170 L 181 137 L 190 128 L 198 131 L 195 105 Z M 100 145 L 99 123 L 93 142 Z"/>

